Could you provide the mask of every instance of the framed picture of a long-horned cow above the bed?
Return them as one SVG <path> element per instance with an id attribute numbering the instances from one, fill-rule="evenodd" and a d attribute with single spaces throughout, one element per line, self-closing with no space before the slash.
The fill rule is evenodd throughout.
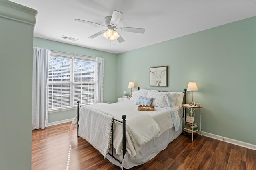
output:
<path id="1" fill-rule="evenodd" d="M 150 86 L 168 86 L 168 66 L 149 68 Z"/>

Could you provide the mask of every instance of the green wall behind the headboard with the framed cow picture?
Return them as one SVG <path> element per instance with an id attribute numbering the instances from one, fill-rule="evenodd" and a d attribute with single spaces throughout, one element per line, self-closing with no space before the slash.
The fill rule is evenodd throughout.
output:
<path id="1" fill-rule="evenodd" d="M 202 131 L 256 145 L 255 64 L 252 17 L 119 54 L 117 95 L 129 90 L 129 81 L 165 91 L 183 91 L 195 81 L 193 98 L 203 106 Z M 149 68 L 166 65 L 168 87 L 150 87 Z M 187 97 L 191 102 L 191 92 Z"/>

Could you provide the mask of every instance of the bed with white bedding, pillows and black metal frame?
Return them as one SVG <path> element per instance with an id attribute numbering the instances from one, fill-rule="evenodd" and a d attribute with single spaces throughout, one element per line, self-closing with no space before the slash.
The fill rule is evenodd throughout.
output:
<path id="1" fill-rule="evenodd" d="M 138 88 L 127 102 L 97 103 L 77 108 L 77 137 L 86 139 L 103 156 L 122 169 L 154 158 L 183 131 L 184 92 Z M 138 105 L 154 111 L 138 111 Z"/>

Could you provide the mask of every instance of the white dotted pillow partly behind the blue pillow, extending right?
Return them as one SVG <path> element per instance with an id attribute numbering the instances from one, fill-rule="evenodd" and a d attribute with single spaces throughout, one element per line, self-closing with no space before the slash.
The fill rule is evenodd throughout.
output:
<path id="1" fill-rule="evenodd" d="M 176 104 L 176 98 L 171 96 L 169 92 L 150 91 L 147 97 L 154 98 L 151 105 L 156 107 L 170 108 L 174 107 Z"/>

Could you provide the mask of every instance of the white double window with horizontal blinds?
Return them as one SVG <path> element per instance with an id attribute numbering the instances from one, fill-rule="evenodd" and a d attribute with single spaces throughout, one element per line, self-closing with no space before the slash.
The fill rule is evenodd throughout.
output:
<path id="1" fill-rule="evenodd" d="M 92 104 L 95 59 L 51 53 L 48 66 L 48 111 Z"/>

